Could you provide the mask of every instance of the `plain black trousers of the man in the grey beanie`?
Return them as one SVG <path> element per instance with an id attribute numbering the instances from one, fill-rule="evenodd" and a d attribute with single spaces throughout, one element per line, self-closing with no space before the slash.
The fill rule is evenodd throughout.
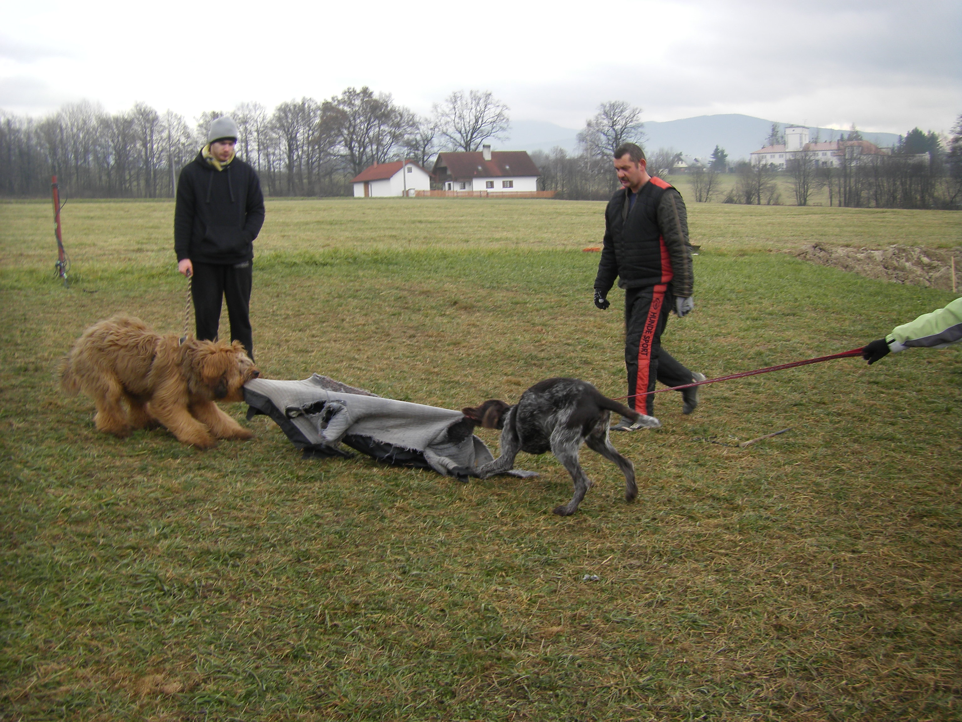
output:
<path id="1" fill-rule="evenodd" d="M 193 314 L 197 322 L 197 338 L 215 341 L 220 325 L 221 299 L 227 301 L 227 316 L 231 322 L 231 341 L 240 341 L 247 355 L 254 358 L 254 340 L 250 328 L 250 289 L 253 263 L 221 266 L 193 262 Z"/>

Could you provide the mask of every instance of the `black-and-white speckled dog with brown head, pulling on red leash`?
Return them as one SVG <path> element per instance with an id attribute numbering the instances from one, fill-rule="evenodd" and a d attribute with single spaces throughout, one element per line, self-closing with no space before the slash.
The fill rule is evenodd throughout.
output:
<path id="1" fill-rule="evenodd" d="M 554 509 L 568 516 L 578 509 L 592 481 L 578 463 L 582 444 L 614 461 L 624 474 L 624 499 L 638 495 L 635 466 L 611 445 L 608 421 L 617 411 L 639 428 L 657 428 L 661 423 L 653 416 L 608 399 L 587 381 L 577 378 L 547 378 L 521 394 L 514 406 L 496 399 L 476 408 L 462 409 L 465 416 L 485 428 L 500 428 L 500 456 L 476 470 L 481 478 L 503 474 L 515 464 L 519 451 L 544 453 L 551 451 L 565 466 L 574 482 L 574 496 L 567 504 Z"/>

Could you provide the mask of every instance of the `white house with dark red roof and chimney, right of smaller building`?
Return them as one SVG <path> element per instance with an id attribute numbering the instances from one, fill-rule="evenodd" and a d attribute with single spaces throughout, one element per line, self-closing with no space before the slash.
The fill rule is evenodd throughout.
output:
<path id="1" fill-rule="evenodd" d="M 538 190 L 541 171 L 523 150 L 492 150 L 439 153 L 434 177 L 443 191 L 532 193 Z"/>

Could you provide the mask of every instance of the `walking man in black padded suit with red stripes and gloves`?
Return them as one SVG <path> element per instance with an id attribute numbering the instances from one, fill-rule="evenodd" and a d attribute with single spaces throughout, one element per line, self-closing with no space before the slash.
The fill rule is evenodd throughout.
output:
<path id="1" fill-rule="evenodd" d="M 679 317 L 695 307 L 692 297 L 692 247 L 688 243 L 685 203 L 671 185 L 648 175 L 645 152 L 634 143 L 614 153 L 621 189 L 605 209 L 604 246 L 595 277 L 595 306 L 610 305 L 607 296 L 618 278 L 624 294 L 624 361 L 628 369 L 628 403 L 653 416 L 655 380 L 666 386 L 703 381 L 661 348 L 671 311 Z M 683 413 L 698 405 L 697 388 L 681 392 Z M 613 428 L 635 430 L 625 419 Z"/>

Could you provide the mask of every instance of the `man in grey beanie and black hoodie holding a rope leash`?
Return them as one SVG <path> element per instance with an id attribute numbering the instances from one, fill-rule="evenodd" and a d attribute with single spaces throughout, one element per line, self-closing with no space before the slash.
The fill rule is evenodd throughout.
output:
<path id="1" fill-rule="evenodd" d="M 253 359 L 249 304 L 254 239 L 264 224 L 264 193 L 254 168 L 235 157 L 237 139 L 237 123 L 218 117 L 208 131 L 208 144 L 181 170 L 174 251 L 177 270 L 193 278 L 197 338 L 217 338 L 221 299 L 226 299 L 231 340 L 240 341 Z"/>

